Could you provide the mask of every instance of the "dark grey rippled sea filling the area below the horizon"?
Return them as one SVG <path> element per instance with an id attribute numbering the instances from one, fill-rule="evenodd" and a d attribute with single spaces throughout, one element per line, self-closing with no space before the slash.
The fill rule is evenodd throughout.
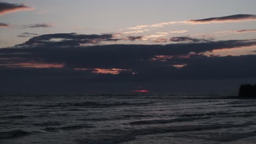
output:
<path id="1" fill-rule="evenodd" d="M 256 99 L 1 95 L 0 143 L 255 143 Z"/>

